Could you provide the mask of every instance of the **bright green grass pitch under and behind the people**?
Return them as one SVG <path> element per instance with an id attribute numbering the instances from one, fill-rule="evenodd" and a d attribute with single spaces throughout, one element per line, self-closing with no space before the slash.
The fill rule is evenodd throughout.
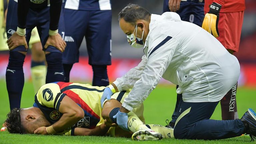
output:
<path id="1" fill-rule="evenodd" d="M 6 90 L 5 81 L 0 81 L 0 124 L 6 118 L 9 112 L 9 101 Z M 237 90 L 237 106 L 238 114 L 241 117 L 248 108 L 256 110 L 255 104 L 256 89 L 248 87 L 239 87 Z M 31 82 L 25 82 L 21 107 L 30 107 L 34 101 L 34 90 Z M 171 119 L 171 114 L 174 110 L 176 102 L 176 93 L 174 85 L 159 85 L 144 102 L 144 116 L 147 124 L 161 124 L 166 125 L 165 120 Z M 212 119 L 221 119 L 220 105 L 217 106 L 212 115 Z M 0 126 L 1 126 L 0 125 Z M 234 143 L 251 143 L 249 136 L 240 136 L 236 138 L 224 140 L 177 140 L 177 139 L 164 139 L 160 141 L 131 141 L 128 138 L 113 138 L 113 137 L 97 137 L 97 136 L 41 136 L 41 135 L 19 135 L 9 134 L 8 132 L 0 132 L 0 144 L 234 144 Z"/>

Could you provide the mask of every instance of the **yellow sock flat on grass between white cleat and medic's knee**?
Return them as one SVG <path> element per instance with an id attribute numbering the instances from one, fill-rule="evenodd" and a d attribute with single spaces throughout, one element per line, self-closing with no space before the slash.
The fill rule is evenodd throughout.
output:
<path id="1" fill-rule="evenodd" d="M 159 124 L 147 124 L 155 132 L 159 132 L 164 138 L 174 138 L 173 128 L 168 128 Z"/>

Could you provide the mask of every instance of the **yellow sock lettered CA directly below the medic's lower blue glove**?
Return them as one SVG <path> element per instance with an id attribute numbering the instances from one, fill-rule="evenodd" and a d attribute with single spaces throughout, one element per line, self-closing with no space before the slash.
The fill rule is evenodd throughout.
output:
<path id="1" fill-rule="evenodd" d="M 128 113 L 128 128 L 132 132 L 142 129 L 149 129 L 133 112 Z"/>

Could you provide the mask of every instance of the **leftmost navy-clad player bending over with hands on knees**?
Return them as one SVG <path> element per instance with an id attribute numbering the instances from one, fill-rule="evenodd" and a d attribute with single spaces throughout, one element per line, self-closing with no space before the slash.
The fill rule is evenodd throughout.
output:
<path id="1" fill-rule="evenodd" d="M 33 28 L 37 27 L 44 46 L 48 65 L 46 83 L 64 81 L 62 52 L 66 43 L 60 36 L 64 35 L 65 29 L 64 20 L 60 17 L 62 0 L 50 0 L 50 7 L 47 5 L 46 0 L 10 0 L 8 3 L 6 33 L 10 56 L 6 86 L 10 109 L 20 107 L 24 85 L 23 63 Z"/>

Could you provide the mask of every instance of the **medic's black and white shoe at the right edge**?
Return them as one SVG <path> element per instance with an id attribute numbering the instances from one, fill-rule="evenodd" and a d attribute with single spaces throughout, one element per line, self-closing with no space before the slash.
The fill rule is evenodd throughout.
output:
<path id="1" fill-rule="evenodd" d="M 256 113 L 249 108 L 242 116 L 241 121 L 245 126 L 245 133 L 249 134 L 251 141 L 256 139 Z"/>

